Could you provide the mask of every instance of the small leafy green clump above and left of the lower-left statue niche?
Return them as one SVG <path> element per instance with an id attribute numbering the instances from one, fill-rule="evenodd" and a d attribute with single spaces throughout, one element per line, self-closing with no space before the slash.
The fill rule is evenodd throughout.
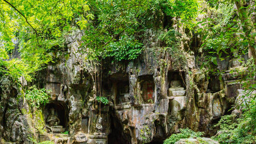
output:
<path id="1" fill-rule="evenodd" d="M 49 103 L 49 98 L 45 88 L 37 89 L 36 85 L 33 85 L 26 90 L 25 99 L 32 108 L 39 108 L 40 104 Z"/>

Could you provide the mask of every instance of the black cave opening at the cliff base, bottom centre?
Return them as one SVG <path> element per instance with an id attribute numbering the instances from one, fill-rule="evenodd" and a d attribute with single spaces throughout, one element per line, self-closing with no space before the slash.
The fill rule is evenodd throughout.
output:
<path id="1" fill-rule="evenodd" d="M 114 112 L 113 112 L 114 113 Z M 118 119 L 110 115 L 110 134 L 108 135 L 108 144 L 132 144 L 131 137 L 127 136 L 123 132 L 122 124 L 118 121 Z"/>

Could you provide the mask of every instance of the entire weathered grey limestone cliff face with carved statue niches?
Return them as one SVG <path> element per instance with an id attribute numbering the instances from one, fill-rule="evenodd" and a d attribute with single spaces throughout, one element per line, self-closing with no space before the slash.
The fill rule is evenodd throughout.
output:
<path id="1" fill-rule="evenodd" d="M 147 33 L 156 35 L 152 30 Z M 194 55 L 184 52 L 186 65 L 179 70 L 173 67 L 168 51 L 154 49 L 158 41 L 152 37 L 144 41 L 146 48 L 137 60 L 111 64 L 104 60 L 100 69 L 94 61 L 85 60 L 86 54 L 77 52 L 82 35 L 81 31 L 74 31 L 66 36 L 66 52 L 57 53 L 56 62 L 40 74 L 39 85 L 51 90 L 49 104 L 41 106 L 42 132 L 33 129 L 36 124 L 22 89 L 12 85 L 9 78 L 0 78 L 3 144 L 32 143 L 28 139 L 32 136 L 37 141 L 56 144 L 161 144 L 186 127 L 209 136 L 215 120 L 240 93 L 237 89 L 241 84 L 234 82 L 237 77 L 227 72 L 224 80 L 208 80 L 206 73 L 195 67 Z M 185 44 L 188 46 L 189 38 Z M 220 67 L 225 69 L 227 65 Z M 109 104 L 100 104 L 97 96 L 107 97 Z M 53 122 L 48 127 L 49 121 Z M 65 131 L 68 132 L 61 133 Z M 207 142 L 204 144 L 218 144 L 203 140 Z M 185 144 L 184 141 L 177 144 Z M 198 144 L 198 140 L 189 141 Z"/>

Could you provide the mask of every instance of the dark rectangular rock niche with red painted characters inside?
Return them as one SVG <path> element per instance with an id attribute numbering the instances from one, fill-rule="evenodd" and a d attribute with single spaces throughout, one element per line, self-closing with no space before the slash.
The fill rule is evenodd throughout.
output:
<path id="1" fill-rule="evenodd" d="M 143 103 L 155 102 L 155 82 L 152 75 L 144 75 L 139 77 L 139 95 L 143 99 Z"/>

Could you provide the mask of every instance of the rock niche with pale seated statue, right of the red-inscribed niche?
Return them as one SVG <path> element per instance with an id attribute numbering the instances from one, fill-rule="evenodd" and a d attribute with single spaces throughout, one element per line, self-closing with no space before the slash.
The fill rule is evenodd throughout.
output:
<path id="1" fill-rule="evenodd" d="M 183 86 L 184 79 L 178 72 L 168 72 L 168 80 L 170 81 L 168 96 L 185 96 L 186 90 Z"/>

